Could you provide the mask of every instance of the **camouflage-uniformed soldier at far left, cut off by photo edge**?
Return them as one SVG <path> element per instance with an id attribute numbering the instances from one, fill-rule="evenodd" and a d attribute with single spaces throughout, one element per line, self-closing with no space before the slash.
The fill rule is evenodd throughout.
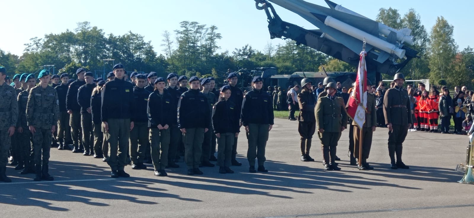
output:
<path id="1" fill-rule="evenodd" d="M 7 70 L 0 67 L 0 181 L 10 183 L 5 171 L 8 163 L 10 137 L 15 133 L 18 119 L 18 102 L 15 88 L 5 83 Z"/>

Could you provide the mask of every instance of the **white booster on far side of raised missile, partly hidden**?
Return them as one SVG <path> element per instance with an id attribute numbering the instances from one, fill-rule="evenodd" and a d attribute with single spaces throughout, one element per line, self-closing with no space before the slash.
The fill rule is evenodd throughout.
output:
<path id="1" fill-rule="evenodd" d="M 344 12 L 344 13 L 347 13 L 347 14 L 351 14 L 351 15 L 354 15 L 354 16 L 357 16 L 357 17 L 363 17 L 363 18 L 366 18 L 366 19 L 369 19 L 367 17 L 364 17 L 362 16 L 361 14 L 358 14 L 350 9 L 347 9 L 347 8 L 344 8 L 342 5 L 338 5 L 330 0 L 325 0 L 326 3 L 328 4 L 329 8 L 331 9 L 335 9 L 337 11 L 340 11 L 340 12 Z M 397 38 L 397 41 L 399 41 L 400 43 L 407 43 L 407 44 L 410 44 L 410 45 L 413 45 L 413 41 L 414 41 L 414 38 L 413 36 L 411 36 L 411 29 L 409 28 L 403 28 L 401 30 L 396 30 L 390 26 L 387 26 L 387 25 L 384 25 L 384 24 L 381 24 L 379 23 L 379 33 L 380 34 L 383 34 L 383 35 L 390 35 L 391 32 L 394 32 L 396 34 L 396 38 Z"/>

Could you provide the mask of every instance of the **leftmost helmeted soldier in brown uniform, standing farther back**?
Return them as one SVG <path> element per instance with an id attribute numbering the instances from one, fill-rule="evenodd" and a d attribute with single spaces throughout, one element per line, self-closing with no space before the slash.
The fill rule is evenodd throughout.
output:
<path id="1" fill-rule="evenodd" d="M 314 161 L 310 157 L 311 140 L 316 130 L 314 117 L 315 97 L 311 90 L 312 82 L 309 78 L 301 80 L 302 90 L 298 94 L 300 114 L 298 114 L 298 132 L 300 133 L 301 161 Z"/>

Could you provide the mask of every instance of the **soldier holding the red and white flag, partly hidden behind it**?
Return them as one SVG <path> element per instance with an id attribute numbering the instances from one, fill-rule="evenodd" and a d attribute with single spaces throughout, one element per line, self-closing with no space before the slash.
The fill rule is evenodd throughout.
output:
<path id="1" fill-rule="evenodd" d="M 353 134 L 354 134 L 354 155 L 356 156 L 357 161 L 362 161 L 361 166 L 359 169 L 361 170 L 372 170 L 374 169 L 367 163 L 367 158 L 369 158 L 370 148 L 372 146 L 372 135 L 377 127 L 377 112 L 375 111 L 375 96 L 371 92 L 372 91 L 372 83 L 370 80 L 367 79 L 367 107 L 365 113 L 365 122 L 362 127 L 362 159 L 359 160 L 359 145 L 360 145 L 360 129 L 357 127 L 356 122 L 352 122 L 352 126 L 354 126 Z M 350 139 L 349 139 L 350 140 Z M 353 154 L 351 153 L 351 156 Z M 357 167 L 359 167 L 357 165 Z"/>

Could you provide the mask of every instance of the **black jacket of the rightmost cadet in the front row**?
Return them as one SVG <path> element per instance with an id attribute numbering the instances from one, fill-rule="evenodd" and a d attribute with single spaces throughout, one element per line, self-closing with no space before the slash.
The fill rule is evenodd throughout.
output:
<path id="1" fill-rule="evenodd" d="M 244 126 L 249 123 L 273 125 L 273 102 L 271 97 L 262 89 L 252 89 L 247 92 L 242 101 L 240 117 Z"/>

